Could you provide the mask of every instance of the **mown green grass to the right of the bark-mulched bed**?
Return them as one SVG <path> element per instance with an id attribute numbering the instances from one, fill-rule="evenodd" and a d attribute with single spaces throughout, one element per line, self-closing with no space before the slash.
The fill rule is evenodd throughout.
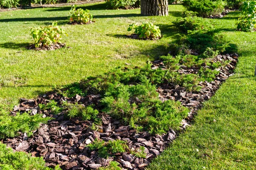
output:
<path id="1" fill-rule="evenodd" d="M 237 17 L 239 12 L 230 12 L 215 20 L 219 34 L 239 48 L 235 75 L 148 170 L 256 169 L 256 33 L 235 31 Z"/>

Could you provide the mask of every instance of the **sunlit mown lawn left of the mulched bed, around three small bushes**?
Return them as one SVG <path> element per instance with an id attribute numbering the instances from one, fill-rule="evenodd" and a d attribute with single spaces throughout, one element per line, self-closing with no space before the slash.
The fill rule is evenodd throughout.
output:
<path id="1" fill-rule="evenodd" d="M 167 43 L 175 36 L 170 23 L 180 15 L 182 6 L 175 6 L 169 17 L 143 17 L 140 9 L 106 10 L 105 3 L 86 4 L 96 23 L 69 25 L 71 6 L 36 8 L 0 13 L 0 98 L 17 103 L 20 97 L 38 94 L 104 73 L 116 66 L 130 63 L 142 66 L 147 60 L 167 54 Z M 57 20 L 69 34 L 64 42 L 71 48 L 56 51 L 32 51 L 30 28 L 46 26 Z M 125 37 L 129 24 L 153 22 L 160 26 L 159 41 L 140 41 Z"/>

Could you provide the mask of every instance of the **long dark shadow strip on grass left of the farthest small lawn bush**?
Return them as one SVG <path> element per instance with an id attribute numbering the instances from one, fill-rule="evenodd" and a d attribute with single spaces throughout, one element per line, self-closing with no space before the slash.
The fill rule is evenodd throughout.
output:
<path id="1" fill-rule="evenodd" d="M 67 20 L 67 17 L 35 17 L 35 18 L 10 18 L 0 19 L 0 23 L 3 22 L 29 22 L 29 21 L 58 21 L 59 24 L 63 23 L 63 20 Z"/>

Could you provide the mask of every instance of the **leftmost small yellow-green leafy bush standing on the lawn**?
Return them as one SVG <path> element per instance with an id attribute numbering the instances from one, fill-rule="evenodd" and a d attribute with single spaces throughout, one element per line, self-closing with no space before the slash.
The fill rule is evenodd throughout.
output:
<path id="1" fill-rule="evenodd" d="M 57 22 L 53 22 L 52 26 L 31 28 L 30 32 L 35 40 L 35 47 L 61 44 L 62 35 L 68 34 L 57 25 Z"/>

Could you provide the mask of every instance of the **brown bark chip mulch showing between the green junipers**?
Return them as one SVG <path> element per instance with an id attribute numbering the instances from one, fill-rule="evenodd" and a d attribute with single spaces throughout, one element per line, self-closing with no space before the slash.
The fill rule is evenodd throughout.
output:
<path id="1" fill-rule="evenodd" d="M 157 88 L 161 100 L 180 101 L 185 107 L 190 109 L 189 116 L 183 120 L 181 129 L 185 128 L 193 119 L 195 113 L 202 107 L 202 102 L 217 91 L 222 82 L 233 75 L 233 70 L 238 61 L 237 54 L 218 55 L 214 61 L 230 60 L 225 67 L 219 68 L 220 73 L 212 82 L 201 82 L 203 87 L 198 92 L 186 92 L 185 88 L 174 84 L 162 84 Z M 203 66 L 203 65 L 202 65 Z M 152 65 L 152 69 L 165 68 L 163 62 L 158 60 Z M 208 67 L 205 65 L 204 67 Z M 198 72 L 197 68 L 187 68 L 181 65 L 178 70 L 182 74 Z M 123 125 L 118 120 L 112 119 L 105 113 L 99 113 L 102 118 L 102 126 L 98 130 L 91 130 L 92 121 L 82 121 L 80 118 L 65 119 L 64 112 L 53 115 L 48 111 L 41 111 L 38 104 L 46 104 L 54 99 L 57 102 L 67 101 L 71 103 L 78 102 L 81 105 L 99 104 L 102 96 L 99 94 L 87 95 L 85 97 L 76 95 L 73 98 L 65 98 L 57 93 L 44 95 L 37 99 L 21 99 L 20 105 L 15 106 L 12 114 L 18 111 L 24 113 L 31 111 L 31 114 L 44 114 L 55 118 L 49 121 L 47 125 L 42 125 L 36 130 L 32 137 L 28 138 L 26 133 L 20 133 L 19 137 L 4 139 L 2 142 L 17 151 L 26 151 L 32 153 L 32 156 L 43 156 L 47 166 L 54 167 L 59 164 L 64 170 L 85 170 L 96 169 L 106 166 L 109 161 L 115 160 L 120 166 L 129 170 L 142 170 L 150 161 L 158 156 L 163 150 L 177 137 L 179 132 L 169 130 L 163 135 L 151 135 L 148 132 L 137 133 L 129 126 Z M 121 139 L 127 141 L 130 150 L 137 150 L 140 146 L 145 147 L 146 158 L 138 158 L 129 153 L 115 154 L 108 159 L 100 158 L 95 151 L 90 151 L 87 144 L 95 139 L 112 141 Z"/>

